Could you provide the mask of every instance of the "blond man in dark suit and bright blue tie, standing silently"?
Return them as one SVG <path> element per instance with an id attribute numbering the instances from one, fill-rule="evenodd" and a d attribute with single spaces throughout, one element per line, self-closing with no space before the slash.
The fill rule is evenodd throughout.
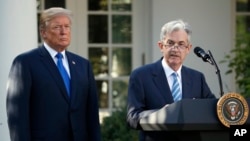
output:
<path id="1" fill-rule="evenodd" d="M 66 51 L 71 25 L 69 10 L 43 11 L 40 17 L 43 45 L 14 59 L 7 88 L 11 141 L 101 140 L 90 62 Z M 68 79 L 67 84 L 64 78 Z"/>

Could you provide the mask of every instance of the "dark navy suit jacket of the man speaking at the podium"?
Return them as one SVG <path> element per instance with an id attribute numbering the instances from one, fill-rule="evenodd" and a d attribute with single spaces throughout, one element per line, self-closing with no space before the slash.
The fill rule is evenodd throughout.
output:
<path id="1" fill-rule="evenodd" d="M 215 98 L 201 72 L 182 66 L 182 98 Z M 173 103 L 173 97 L 161 59 L 155 63 L 135 69 L 130 75 L 128 88 L 127 123 L 134 129 L 141 129 L 139 120 Z M 140 141 L 166 140 L 165 132 L 140 132 Z"/>

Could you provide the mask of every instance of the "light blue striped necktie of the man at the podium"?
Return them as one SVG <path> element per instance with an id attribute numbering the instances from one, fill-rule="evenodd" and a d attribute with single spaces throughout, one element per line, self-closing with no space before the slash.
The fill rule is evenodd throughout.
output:
<path id="1" fill-rule="evenodd" d="M 173 73 L 173 86 L 172 86 L 172 96 L 174 98 L 174 101 L 181 100 L 181 89 L 180 89 L 180 84 L 177 80 L 177 73 Z"/>

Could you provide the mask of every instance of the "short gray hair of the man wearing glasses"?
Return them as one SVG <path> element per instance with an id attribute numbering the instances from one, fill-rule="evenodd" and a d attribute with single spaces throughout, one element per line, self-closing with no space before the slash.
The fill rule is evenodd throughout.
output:
<path id="1" fill-rule="evenodd" d="M 166 35 L 169 35 L 173 31 L 178 31 L 178 30 L 185 30 L 187 35 L 188 35 L 188 42 L 191 42 L 192 30 L 191 30 L 189 24 L 182 21 L 182 20 L 170 21 L 170 22 L 164 24 L 161 28 L 160 40 L 163 41 L 165 39 Z"/>

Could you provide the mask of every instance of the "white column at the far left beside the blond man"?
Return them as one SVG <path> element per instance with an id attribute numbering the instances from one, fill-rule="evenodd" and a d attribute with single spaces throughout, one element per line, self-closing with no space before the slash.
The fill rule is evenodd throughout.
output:
<path id="1" fill-rule="evenodd" d="M 6 84 L 14 57 L 37 47 L 35 0 L 0 1 L 0 138 L 10 141 L 6 116 Z"/>

